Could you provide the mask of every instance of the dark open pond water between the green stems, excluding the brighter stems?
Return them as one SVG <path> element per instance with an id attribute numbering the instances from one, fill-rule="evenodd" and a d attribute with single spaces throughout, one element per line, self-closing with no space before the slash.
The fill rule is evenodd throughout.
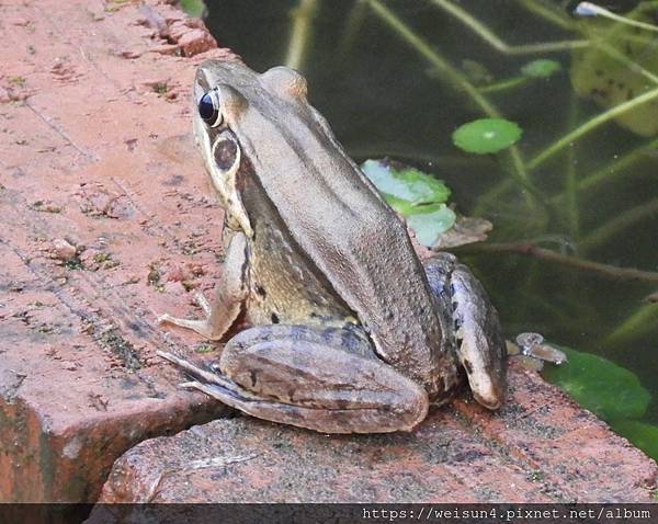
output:
<path id="1" fill-rule="evenodd" d="M 367 2 L 354 0 L 207 3 L 206 23 L 213 34 L 253 69 L 262 71 L 292 60 L 304 72 L 311 103 L 353 157 L 388 156 L 445 180 L 460 210 L 494 223 L 490 241 L 532 240 L 568 255 L 658 271 L 658 146 L 650 144 L 655 135 L 640 137 L 615 123 L 598 127 L 530 172 L 538 200 L 547 205 L 529 203 L 526 192 L 509 182 L 508 155 L 478 157 L 453 146 L 452 132 L 483 117 L 481 105 L 446 81 L 445 73 L 436 72 L 418 47 L 401 36 L 399 24 L 424 42 L 429 53 L 435 50 L 462 73 L 468 60 L 484 66 L 496 81 L 518 76 L 523 65 L 536 58 L 561 64 L 563 70 L 548 79 L 486 94 L 501 115 L 523 128 L 519 153 L 526 163 L 603 111 L 575 95 L 570 50 L 501 53 L 431 0 L 378 2 L 397 19 L 388 21 Z M 578 29 L 569 27 L 577 21 L 566 15 L 566 3 L 457 2 L 510 46 L 582 38 Z M 621 3 L 629 8 L 634 2 Z M 557 23 L 533 13 L 533 7 L 544 9 Z M 305 8 L 313 10 L 309 23 L 299 24 L 295 34 L 293 13 Z M 646 37 L 653 50 L 657 33 L 634 34 Z M 643 65 L 655 66 L 653 72 L 658 73 L 658 62 Z M 629 168 L 613 170 L 615 160 L 648 144 Z M 568 205 L 569 180 L 587 180 L 600 170 L 614 172 L 605 182 L 577 192 Z M 615 219 L 622 220 L 621 226 L 615 227 Z M 653 397 L 642 420 L 658 425 L 658 310 L 643 301 L 656 292 L 656 283 L 613 280 L 512 253 L 470 254 L 464 260 L 491 294 L 509 337 L 538 331 L 552 342 L 604 356 L 629 369 Z M 620 335 L 625 322 L 629 328 Z M 617 386 L 609 385 L 611 391 Z"/>

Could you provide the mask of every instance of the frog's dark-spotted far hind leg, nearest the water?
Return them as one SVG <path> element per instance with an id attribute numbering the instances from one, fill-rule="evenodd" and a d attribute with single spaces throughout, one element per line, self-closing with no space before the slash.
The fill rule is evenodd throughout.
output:
<path id="1" fill-rule="evenodd" d="M 507 389 L 507 346 L 498 312 L 470 270 L 450 253 L 424 263 L 430 287 L 453 328 L 457 358 L 475 399 L 498 409 Z"/>

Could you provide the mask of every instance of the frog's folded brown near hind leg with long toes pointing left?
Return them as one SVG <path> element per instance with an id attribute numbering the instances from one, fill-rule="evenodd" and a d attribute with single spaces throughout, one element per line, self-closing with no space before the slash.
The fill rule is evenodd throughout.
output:
<path id="1" fill-rule="evenodd" d="M 350 330 L 251 328 L 228 342 L 220 374 L 160 354 L 197 379 L 188 386 L 253 417 L 322 433 L 409 431 L 428 412 L 424 389 Z"/>

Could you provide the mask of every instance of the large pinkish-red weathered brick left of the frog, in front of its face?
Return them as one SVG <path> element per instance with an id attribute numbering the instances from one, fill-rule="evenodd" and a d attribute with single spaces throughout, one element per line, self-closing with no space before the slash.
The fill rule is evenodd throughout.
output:
<path id="1" fill-rule="evenodd" d="M 175 389 L 154 322 L 216 276 L 222 219 L 189 138 L 200 58 L 159 49 L 214 41 L 139 3 L 0 4 L 0 502 L 94 501 L 133 444 L 223 411 Z"/>

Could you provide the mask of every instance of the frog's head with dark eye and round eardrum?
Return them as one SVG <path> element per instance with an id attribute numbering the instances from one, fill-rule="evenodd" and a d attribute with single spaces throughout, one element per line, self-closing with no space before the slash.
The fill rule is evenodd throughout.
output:
<path id="1" fill-rule="evenodd" d="M 249 218 L 236 187 L 237 173 L 245 161 L 258 164 L 259 151 L 262 156 L 264 148 L 284 144 L 286 136 L 294 141 L 315 122 L 306 102 L 306 79 L 286 67 L 258 75 L 238 61 L 207 60 L 196 71 L 193 103 L 194 136 L 211 181 L 229 224 L 250 236 Z M 296 155 L 282 151 L 276 157 L 279 168 L 282 159 Z"/>

